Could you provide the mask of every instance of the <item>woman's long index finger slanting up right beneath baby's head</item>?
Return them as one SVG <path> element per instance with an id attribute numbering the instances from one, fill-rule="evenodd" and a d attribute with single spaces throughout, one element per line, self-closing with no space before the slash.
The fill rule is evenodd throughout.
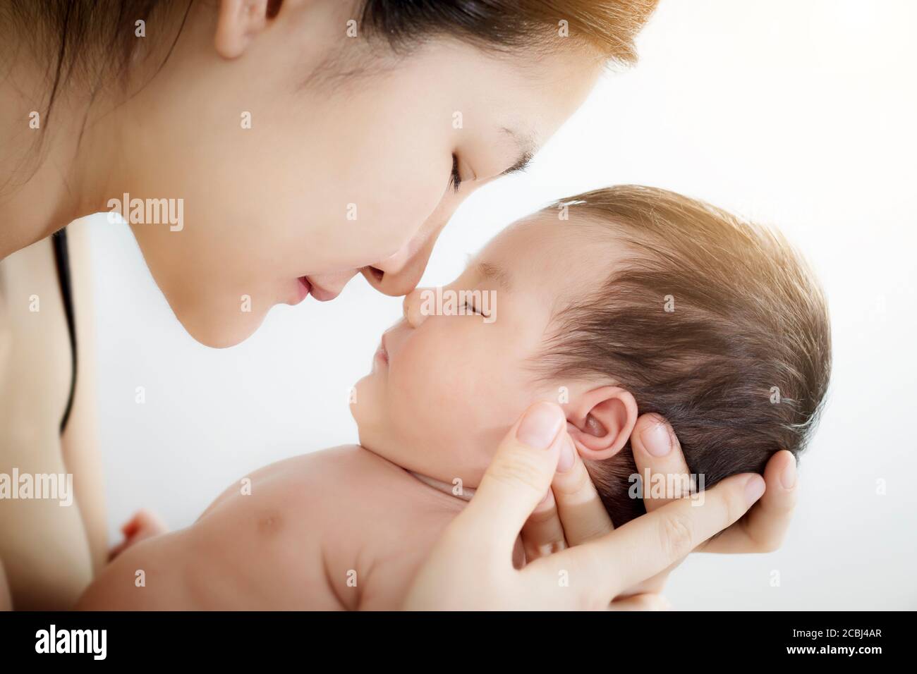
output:
<path id="1" fill-rule="evenodd" d="M 667 569 L 732 525 L 764 489 L 764 480 L 757 473 L 734 475 L 713 489 L 668 503 L 601 538 L 538 559 L 521 573 L 544 574 L 542 579 L 555 583 L 559 576 L 574 590 L 580 605 L 607 605 L 624 589 Z M 640 555 L 627 554 L 633 550 Z"/>

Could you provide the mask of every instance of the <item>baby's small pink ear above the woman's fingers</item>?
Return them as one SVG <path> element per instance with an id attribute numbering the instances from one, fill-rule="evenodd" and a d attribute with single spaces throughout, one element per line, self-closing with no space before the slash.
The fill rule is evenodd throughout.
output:
<path id="1" fill-rule="evenodd" d="M 568 406 L 569 435 L 583 459 L 601 461 L 617 454 L 636 424 L 634 396 L 618 386 L 602 386 Z"/>

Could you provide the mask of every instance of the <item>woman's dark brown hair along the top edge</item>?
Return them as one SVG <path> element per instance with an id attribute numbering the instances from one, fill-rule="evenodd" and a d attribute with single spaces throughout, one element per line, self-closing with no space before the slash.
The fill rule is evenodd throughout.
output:
<path id="1" fill-rule="evenodd" d="M 0 0 L 0 36 L 17 32 L 48 76 L 47 127 L 64 84 L 79 78 L 92 98 L 113 78 L 127 82 L 138 46 L 137 22 L 160 18 L 173 26 L 165 35 L 171 55 L 194 0 Z M 635 61 L 634 38 L 657 0 L 353 0 L 360 33 L 385 39 L 392 48 L 436 36 L 452 36 L 494 49 L 542 47 L 569 37 L 591 45 L 605 59 Z M 270 0 L 267 16 L 282 11 Z M 342 35 L 343 35 L 342 26 Z M 19 47 L 17 46 L 17 49 Z"/>

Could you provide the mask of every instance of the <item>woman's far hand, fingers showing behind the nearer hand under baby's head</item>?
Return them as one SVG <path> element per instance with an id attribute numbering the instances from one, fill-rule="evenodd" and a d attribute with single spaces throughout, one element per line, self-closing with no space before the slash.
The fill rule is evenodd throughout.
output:
<path id="1" fill-rule="evenodd" d="M 646 483 L 654 476 L 679 476 L 679 484 L 688 484 L 688 464 L 681 452 L 678 437 L 665 419 L 657 414 L 644 414 L 637 421 L 631 436 L 631 447 L 637 471 Z M 562 447 L 563 449 L 563 447 Z M 557 550 L 580 545 L 613 529 L 611 518 L 592 485 L 589 473 L 577 452 L 565 457 L 561 452 L 558 470 L 551 482 L 551 492 L 539 503 L 523 528 L 526 559 L 544 557 Z M 648 478 L 648 481 L 647 481 Z M 764 473 L 767 489 L 746 517 L 730 526 L 720 536 L 703 542 L 695 551 L 742 553 L 770 552 L 777 549 L 790 525 L 796 504 L 796 459 L 789 451 L 781 451 L 768 461 Z M 675 481 L 665 480 L 662 484 Z M 654 490 L 644 490 L 646 512 L 652 513 L 679 494 L 654 498 Z M 684 558 L 639 583 L 634 593 L 657 592 Z"/>

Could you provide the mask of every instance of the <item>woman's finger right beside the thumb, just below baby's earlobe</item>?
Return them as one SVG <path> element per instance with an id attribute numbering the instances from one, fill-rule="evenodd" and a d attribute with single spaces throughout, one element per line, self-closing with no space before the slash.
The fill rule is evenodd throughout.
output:
<path id="1" fill-rule="evenodd" d="M 561 447 L 558 471 L 551 482 L 551 491 L 558 503 L 559 523 L 567 537 L 568 546 L 579 546 L 592 538 L 611 531 L 612 518 L 592 484 L 589 471 L 580 459 L 573 441 Z"/>

